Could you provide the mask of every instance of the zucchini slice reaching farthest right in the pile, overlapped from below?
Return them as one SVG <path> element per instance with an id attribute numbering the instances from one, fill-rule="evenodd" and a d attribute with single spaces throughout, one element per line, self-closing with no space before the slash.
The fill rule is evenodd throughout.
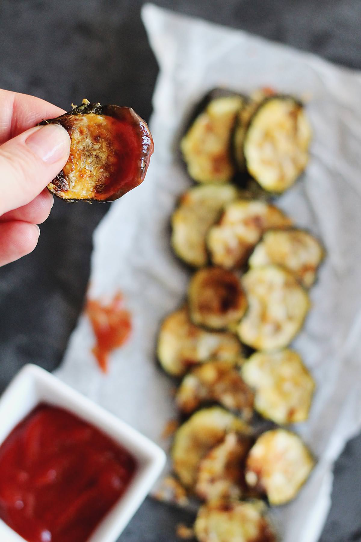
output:
<path id="1" fill-rule="evenodd" d="M 248 264 L 261 267 L 276 263 L 292 271 L 305 288 L 310 288 L 323 257 L 320 242 L 307 231 L 269 230 L 255 247 Z"/>

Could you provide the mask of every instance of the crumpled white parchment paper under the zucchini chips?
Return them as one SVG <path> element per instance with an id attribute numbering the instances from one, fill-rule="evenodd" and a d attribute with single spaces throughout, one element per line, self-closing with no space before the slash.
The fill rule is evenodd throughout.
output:
<path id="1" fill-rule="evenodd" d="M 313 308 L 294 341 L 317 382 L 310 420 L 296 430 L 318 464 L 296 501 L 273 514 L 285 542 L 316 542 L 330 506 L 332 464 L 361 427 L 361 74 L 151 4 L 142 18 L 160 65 L 150 122 L 155 153 L 145 182 L 113 203 L 96 229 L 90 278 L 92 296 L 123 292 L 134 330 L 103 376 L 82 316 L 57 375 L 168 448 L 161 433 L 176 415 L 173 383 L 155 363 L 155 341 L 189 279 L 169 244 L 176 197 L 191 185 L 176 154 L 180 130 L 214 86 L 310 94 L 310 164 L 277 204 L 327 250 Z"/>

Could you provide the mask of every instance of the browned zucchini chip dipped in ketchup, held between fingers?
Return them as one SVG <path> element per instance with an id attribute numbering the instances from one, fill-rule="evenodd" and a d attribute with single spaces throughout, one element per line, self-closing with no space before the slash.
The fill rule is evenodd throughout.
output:
<path id="1" fill-rule="evenodd" d="M 70 135 L 70 156 L 48 184 L 68 201 L 110 202 L 145 178 L 154 145 L 146 122 L 133 109 L 90 104 L 41 124 L 60 124 Z"/>

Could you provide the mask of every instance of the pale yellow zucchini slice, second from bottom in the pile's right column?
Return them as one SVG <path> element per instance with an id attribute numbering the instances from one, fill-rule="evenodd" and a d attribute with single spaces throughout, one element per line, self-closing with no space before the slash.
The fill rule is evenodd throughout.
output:
<path id="1" fill-rule="evenodd" d="M 309 417 L 314 380 L 297 352 L 255 352 L 242 377 L 255 390 L 255 410 L 268 420 L 283 425 Z"/>

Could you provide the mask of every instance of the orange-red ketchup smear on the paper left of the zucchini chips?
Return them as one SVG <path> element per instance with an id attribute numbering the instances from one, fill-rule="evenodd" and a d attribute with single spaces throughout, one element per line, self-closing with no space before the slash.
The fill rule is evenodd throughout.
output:
<path id="1" fill-rule="evenodd" d="M 122 346 L 129 338 L 132 331 L 131 315 L 123 307 L 123 296 L 120 292 L 108 305 L 88 299 L 86 313 L 96 338 L 92 352 L 101 370 L 106 373 L 110 352 Z"/>

